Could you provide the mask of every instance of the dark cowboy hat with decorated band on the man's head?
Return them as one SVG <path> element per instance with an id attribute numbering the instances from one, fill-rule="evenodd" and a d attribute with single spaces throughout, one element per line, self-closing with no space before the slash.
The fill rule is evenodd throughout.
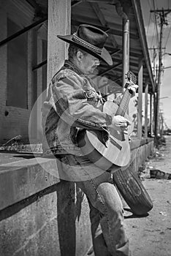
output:
<path id="1" fill-rule="evenodd" d="M 74 34 L 66 36 L 57 35 L 57 37 L 65 42 L 76 45 L 78 48 L 85 50 L 109 65 L 113 64 L 110 53 L 104 48 L 108 35 L 102 29 L 88 24 L 81 24 Z"/>

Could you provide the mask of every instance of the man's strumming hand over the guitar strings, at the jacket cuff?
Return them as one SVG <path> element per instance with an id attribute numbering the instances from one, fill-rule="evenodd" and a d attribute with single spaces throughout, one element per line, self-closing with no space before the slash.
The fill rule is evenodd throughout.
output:
<path id="1" fill-rule="evenodd" d="M 126 133 L 126 130 L 127 130 L 127 127 L 131 124 L 131 122 L 124 118 L 123 116 L 113 116 L 113 120 L 112 120 L 112 124 L 110 124 L 109 127 L 112 127 L 112 128 L 121 128 L 125 133 Z"/>

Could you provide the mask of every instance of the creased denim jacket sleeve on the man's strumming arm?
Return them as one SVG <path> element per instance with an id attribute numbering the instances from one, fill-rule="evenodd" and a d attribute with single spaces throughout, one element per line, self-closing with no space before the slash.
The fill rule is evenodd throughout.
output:
<path id="1" fill-rule="evenodd" d="M 49 88 L 53 108 L 71 126 L 103 129 L 111 124 L 112 117 L 88 103 L 84 83 L 88 80 L 78 75 L 63 74 L 54 78 Z"/>

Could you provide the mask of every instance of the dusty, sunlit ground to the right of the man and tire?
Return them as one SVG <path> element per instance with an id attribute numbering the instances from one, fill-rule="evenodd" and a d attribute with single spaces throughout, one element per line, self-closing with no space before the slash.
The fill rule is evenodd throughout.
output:
<path id="1" fill-rule="evenodd" d="M 171 255 L 171 180 L 150 178 L 149 169 L 171 173 L 171 136 L 156 157 L 149 159 L 142 174 L 145 189 L 153 201 L 147 217 L 134 217 L 125 211 L 125 224 L 132 256 Z"/>

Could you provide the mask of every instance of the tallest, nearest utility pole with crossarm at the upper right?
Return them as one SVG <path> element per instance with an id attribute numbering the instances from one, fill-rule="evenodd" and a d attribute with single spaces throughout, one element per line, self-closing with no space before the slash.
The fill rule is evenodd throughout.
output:
<path id="1" fill-rule="evenodd" d="M 157 135 L 159 134 L 159 98 L 160 98 L 160 87 L 161 87 L 161 65 L 162 65 L 162 39 L 163 39 L 163 27 L 167 25 L 166 16 L 171 12 L 171 10 L 151 10 L 155 15 L 159 15 L 160 18 L 160 40 L 159 40 L 159 71 L 156 83 L 156 113 L 155 113 L 155 124 L 154 124 L 154 135 L 155 143 L 157 144 Z"/>

